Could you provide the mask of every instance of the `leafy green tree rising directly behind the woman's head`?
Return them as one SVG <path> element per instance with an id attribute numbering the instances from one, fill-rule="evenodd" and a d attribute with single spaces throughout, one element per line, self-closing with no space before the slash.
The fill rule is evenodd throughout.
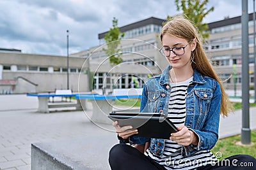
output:
<path id="1" fill-rule="evenodd" d="M 210 32 L 206 32 L 209 29 L 206 23 L 203 24 L 203 19 L 211 11 L 214 10 L 212 6 L 209 10 L 205 7 L 208 3 L 208 0 L 175 0 L 175 5 L 177 10 L 180 9 L 183 11 L 183 14 L 186 15 L 189 20 L 195 23 L 198 31 L 202 35 L 203 40 L 209 38 Z M 169 19 L 170 16 L 167 17 Z"/>

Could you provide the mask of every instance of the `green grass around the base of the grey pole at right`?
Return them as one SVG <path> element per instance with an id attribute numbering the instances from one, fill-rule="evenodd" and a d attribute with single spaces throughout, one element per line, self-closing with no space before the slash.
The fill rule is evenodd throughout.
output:
<path id="1" fill-rule="evenodd" d="M 256 157 L 256 131 L 251 132 L 252 145 L 237 145 L 236 143 L 239 141 L 241 141 L 241 135 L 219 139 L 211 152 L 214 153 L 214 155 L 218 152 L 222 153 L 222 157 L 219 160 L 238 154 L 246 154 Z"/>

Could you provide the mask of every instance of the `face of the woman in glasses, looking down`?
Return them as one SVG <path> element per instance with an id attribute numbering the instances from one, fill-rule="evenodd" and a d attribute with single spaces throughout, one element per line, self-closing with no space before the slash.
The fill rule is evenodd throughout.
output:
<path id="1" fill-rule="evenodd" d="M 180 69 L 186 67 L 191 68 L 191 52 L 195 50 L 195 41 L 191 41 L 190 43 L 188 43 L 186 39 L 164 34 L 162 42 L 164 53 L 166 54 L 166 56 L 170 54 L 170 56 L 166 57 L 166 59 L 170 62 L 173 69 Z M 173 50 L 174 52 L 176 52 L 176 54 L 168 49 Z"/>

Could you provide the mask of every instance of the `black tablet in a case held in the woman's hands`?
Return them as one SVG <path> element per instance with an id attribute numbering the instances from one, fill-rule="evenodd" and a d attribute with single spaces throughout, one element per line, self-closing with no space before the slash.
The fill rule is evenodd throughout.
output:
<path id="1" fill-rule="evenodd" d="M 168 118 L 160 113 L 109 113 L 108 116 L 113 121 L 118 121 L 122 127 L 132 125 L 133 129 L 138 129 L 136 136 L 145 138 L 170 139 L 172 132 L 177 132 L 177 128 Z"/>

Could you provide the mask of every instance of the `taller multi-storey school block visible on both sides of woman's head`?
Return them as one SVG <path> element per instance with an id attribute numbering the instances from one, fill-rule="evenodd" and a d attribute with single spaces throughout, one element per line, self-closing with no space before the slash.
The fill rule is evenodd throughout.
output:
<path id="1" fill-rule="evenodd" d="M 140 77 L 140 85 L 147 79 L 148 71 L 152 75 L 160 74 L 168 65 L 168 62 L 158 49 L 161 48 L 159 32 L 163 26 L 163 19 L 147 18 L 133 24 L 120 27 L 120 32 L 125 33 L 121 40 L 122 58 L 124 62 L 119 68 L 113 70 L 109 66 L 108 57 L 103 51 L 106 48 L 104 36 L 107 32 L 99 34 L 99 46 L 76 53 L 84 55 L 90 60 L 91 70 L 95 73 L 93 89 L 104 87 L 127 88 L 132 80 L 131 74 Z M 217 22 L 209 23 L 210 36 L 204 45 L 205 52 L 216 69 L 220 78 L 224 81 L 226 89 L 241 89 L 241 64 L 242 64 L 242 41 L 241 41 L 241 16 L 225 18 Z M 254 81 L 254 52 L 253 52 L 253 20 L 252 13 L 249 15 L 249 59 L 250 59 L 250 85 Z M 118 69 L 119 68 L 119 69 Z M 136 71 L 134 71 L 134 69 Z M 109 71 L 113 73 L 109 74 Z M 109 77 L 109 78 L 108 78 Z M 106 81 L 104 81 L 106 80 Z M 110 83 L 109 83 L 110 82 Z"/>

